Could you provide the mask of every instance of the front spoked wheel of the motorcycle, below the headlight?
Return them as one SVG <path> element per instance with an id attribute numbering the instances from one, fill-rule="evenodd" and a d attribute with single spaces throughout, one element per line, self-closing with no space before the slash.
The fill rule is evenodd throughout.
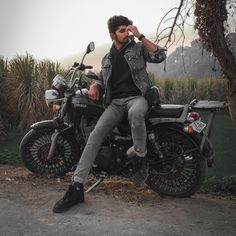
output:
<path id="1" fill-rule="evenodd" d="M 20 157 L 31 172 L 41 175 L 65 175 L 80 157 L 78 143 L 72 134 L 58 137 L 55 155 L 48 159 L 53 128 L 31 129 L 20 143 Z"/>

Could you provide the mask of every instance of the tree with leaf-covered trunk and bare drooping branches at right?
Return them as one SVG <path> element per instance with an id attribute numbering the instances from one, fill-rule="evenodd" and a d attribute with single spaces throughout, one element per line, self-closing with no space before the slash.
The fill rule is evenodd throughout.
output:
<path id="1" fill-rule="evenodd" d="M 164 45 L 169 48 L 182 37 L 183 46 L 187 19 L 194 16 L 194 28 L 200 41 L 217 58 L 227 79 L 228 107 L 236 126 L 236 54 L 231 41 L 236 37 L 235 11 L 236 0 L 179 0 L 179 6 L 172 8 L 157 26 L 156 40 L 165 40 Z M 170 15 L 173 12 L 174 17 Z M 159 32 L 162 24 L 165 24 L 165 28 Z M 180 37 L 176 37 L 177 32 L 180 32 Z"/>

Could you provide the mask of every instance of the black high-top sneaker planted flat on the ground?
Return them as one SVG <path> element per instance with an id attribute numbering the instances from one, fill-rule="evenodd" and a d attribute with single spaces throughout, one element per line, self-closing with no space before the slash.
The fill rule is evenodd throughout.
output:
<path id="1" fill-rule="evenodd" d="M 56 202 L 52 210 L 55 213 L 62 213 L 81 202 L 84 202 L 83 184 L 76 183 L 69 185 L 64 197 Z"/>

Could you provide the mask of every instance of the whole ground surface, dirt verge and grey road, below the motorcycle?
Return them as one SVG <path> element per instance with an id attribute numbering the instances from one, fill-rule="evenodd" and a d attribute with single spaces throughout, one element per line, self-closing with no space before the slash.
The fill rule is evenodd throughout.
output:
<path id="1" fill-rule="evenodd" d="M 0 235 L 235 236 L 236 200 L 207 194 L 161 198 L 129 181 L 107 179 L 86 201 L 63 214 L 51 211 L 70 175 L 42 177 L 0 166 Z M 88 187 L 94 179 L 90 178 Z"/>

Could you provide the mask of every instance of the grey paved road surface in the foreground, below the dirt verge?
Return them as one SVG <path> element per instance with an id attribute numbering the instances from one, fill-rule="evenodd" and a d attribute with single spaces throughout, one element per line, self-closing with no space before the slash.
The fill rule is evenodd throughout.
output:
<path id="1" fill-rule="evenodd" d="M 0 198 L 1 236 L 235 236 L 236 203 L 196 195 L 154 203 L 126 203 L 103 193 L 89 193 L 86 202 L 64 214 L 52 202 L 28 205 Z"/>

